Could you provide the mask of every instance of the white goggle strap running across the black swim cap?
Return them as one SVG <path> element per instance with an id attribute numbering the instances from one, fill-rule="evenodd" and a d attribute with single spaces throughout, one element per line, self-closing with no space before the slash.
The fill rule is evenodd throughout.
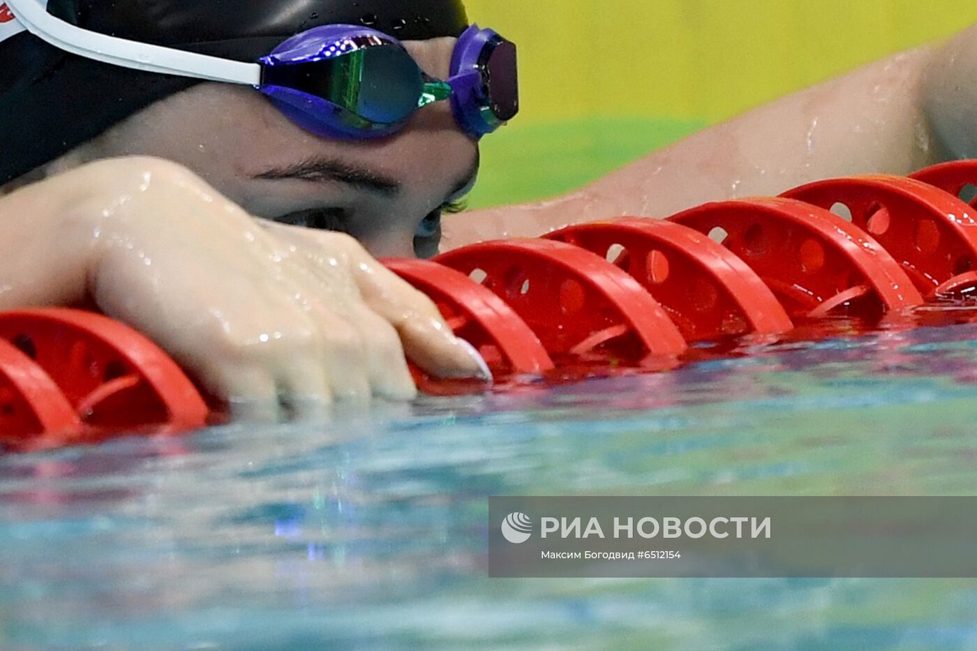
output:
<path id="1" fill-rule="evenodd" d="M 89 31 L 48 14 L 38 0 L 6 0 L 6 5 L 17 18 L 0 23 L 0 41 L 26 29 L 60 50 L 106 64 L 250 86 L 257 86 L 261 81 L 261 66 L 257 64 L 183 52 Z M 7 33 L 10 25 L 16 25 L 14 28 L 17 31 Z"/>

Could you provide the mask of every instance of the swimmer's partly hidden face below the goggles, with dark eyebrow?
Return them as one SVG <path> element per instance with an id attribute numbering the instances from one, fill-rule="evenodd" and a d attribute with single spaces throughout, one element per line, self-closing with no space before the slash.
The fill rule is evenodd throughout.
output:
<path id="1" fill-rule="evenodd" d="M 455 39 L 404 43 L 445 79 Z M 375 256 L 430 256 L 440 211 L 471 189 L 478 146 L 449 103 L 414 113 L 379 141 L 319 138 L 249 88 L 202 84 L 143 111 L 106 134 L 108 155 L 140 153 L 190 167 L 251 214 L 345 231 Z"/>

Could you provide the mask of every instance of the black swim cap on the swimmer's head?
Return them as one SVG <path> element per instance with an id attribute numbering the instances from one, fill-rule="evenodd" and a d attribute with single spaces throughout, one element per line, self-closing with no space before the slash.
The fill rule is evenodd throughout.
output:
<path id="1" fill-rule="evenodd" d="M 400 40 L 458 36 L 468 26 L 461 0 L 48 0 L 48 12 L 112 36 L 243 62 L 323 24 L 362 24 Z M 200 82 L 67 54 L 26 32 L 7 39 L 0 184 Z"/>

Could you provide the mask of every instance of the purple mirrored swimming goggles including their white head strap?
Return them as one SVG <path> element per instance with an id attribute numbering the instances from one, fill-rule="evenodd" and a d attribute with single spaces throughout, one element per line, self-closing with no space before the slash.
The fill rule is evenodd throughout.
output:
<path id="1" fill-rule="evenodd" d="M 289 119 L 320 136 L 380 138 L 417 109 L 449 100 L 475 137 L 519 112 L 516 46 L 477 24 L 458 38 L 446 80 L 426 74 L 393 36 L 331 24 L 282 42 L 256 64 L 140 43 L 64 22 L 37 0 L 5 0 L 22 27 L 71 54 L 111 65 L 253 86 Z"/>

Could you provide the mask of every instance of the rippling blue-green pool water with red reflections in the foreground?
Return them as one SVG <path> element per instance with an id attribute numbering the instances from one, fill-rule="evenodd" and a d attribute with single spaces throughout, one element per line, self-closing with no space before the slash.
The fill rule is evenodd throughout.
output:
<path id="1" fill-rule="evenodd" d="M 493 495 L 977 495 L 977 325 L 0 456 L 0 648 L 977 648 L 977 581 L 490 580 Z"/>

